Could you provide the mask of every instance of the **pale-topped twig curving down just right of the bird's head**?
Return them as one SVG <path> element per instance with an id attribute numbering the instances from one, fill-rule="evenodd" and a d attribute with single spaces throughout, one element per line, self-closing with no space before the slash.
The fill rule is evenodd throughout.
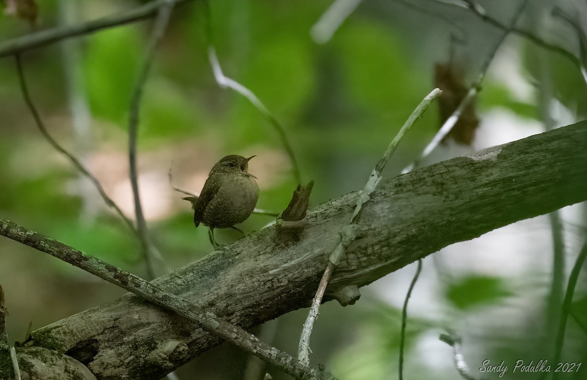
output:
<path id="1" fill-rule="evenodd" d="M 208 38 L 210 39 L 210 38 Z M 284 127 L 277 121 L 277 118 L 274 114 L 271 113 L 265 107 L 265 104 L 262 103 L 261 100 L 253 93 L 253 91 L 247 89 L 247 87 L 243 86 L 242 84 L 238 83 L 236 80 L 231 79 L 222 73 L 222 67 L 220 66 L 220 62 L 218 62 L 218 57 L 216 56 L 216 50 L 214 46 L 208 46 L 208 60 L 210 60 L 210 66 L 212 66 L 212 73 L 214 73 L 214 79 L 218 83 L 218 86 L 228 89 L 232 89 L 237 91 L 237 93 L 241 94 L 251 104 L 261 112 L 261 114 L 269 121 L 269 124 L 277 131 L 279 134 L 279 139 L 281 140 L 282 145 L 284 145 L 285 151 L 289 156 L 289 161 L 292 165 L 292 171 L 294 174 L 294 179 L 298 184 L 302 183 L 302 178 L 299 172 L 298 161 L 295 158 L 294 149 L 292 148 L 291 144 L 289 144 L 289 140 L 287 135 L 285 134 Z"/>

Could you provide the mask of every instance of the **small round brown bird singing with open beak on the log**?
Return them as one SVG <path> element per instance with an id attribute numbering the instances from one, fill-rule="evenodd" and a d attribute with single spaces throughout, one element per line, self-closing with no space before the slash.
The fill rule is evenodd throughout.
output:
<path id="1" fill-rule="evenodd" d="M 248 162 L 255 156 L 244 158 L 228 155 L 214 165 L 198 198 L 187 196 L 194 208 L 194 223 L 210 228 L 208 235 L 212 246 L 219 247 L 214 239 L 215 228 L 232 228 L 251 215 L 257 199 L 259 186 L 254 175 L 248 172 Z"/>

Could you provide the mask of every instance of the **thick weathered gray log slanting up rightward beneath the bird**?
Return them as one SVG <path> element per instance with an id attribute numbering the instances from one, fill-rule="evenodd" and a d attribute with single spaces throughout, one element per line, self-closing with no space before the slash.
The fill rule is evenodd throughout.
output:
<path id="1" fill-rule="evenodd" d="M 585 201 L 586 128 L 582 122 L 382 181 L 328 293 Z M 155 281 L 244 328 L 308 306 L 356 196 L 312 209 L 304 228 L 263 229 Z M 66 352 L 99 379 L 156 379 L 218 343 L 181 317 L 127 295 L 36 330 L 26 345 Z"/>

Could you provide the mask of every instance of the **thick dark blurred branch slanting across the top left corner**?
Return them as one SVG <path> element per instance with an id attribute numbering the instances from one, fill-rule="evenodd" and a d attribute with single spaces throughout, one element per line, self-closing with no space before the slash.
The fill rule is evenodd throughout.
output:
<path id="1" fill-rule="evenodd" d="M 31 33 L 8 40 L 0 44 L 0 58 L 24 52 L 25 50 L 46 46 L 63 39 L 86 35 L 97 32 L 98 30 L 122 26 L 131 22 L 151 18 L 156 15 L 161 5 L 165 4 L 167 1 L 168 0 L 154 0 L 127 12 L 121 12 L 116 15 L 80 23 L 78 25 L 42 30 L 41 32 Z M 180 4 L 187 1 L 188 0 L 177 0 L 176 3 Z"/>

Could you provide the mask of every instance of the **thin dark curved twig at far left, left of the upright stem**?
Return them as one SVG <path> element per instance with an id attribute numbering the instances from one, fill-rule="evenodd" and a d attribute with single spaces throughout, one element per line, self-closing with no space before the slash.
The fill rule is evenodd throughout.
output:
<path id="1" fill-rule="evenodd" d="M 22 96 L 25 99 L 26 106 L 28 106 L 29 110 L 31 111 L 31 114 L 35 119 L 35 123 L 41 131 L 41 133 L 43 134 L 43 136 L 47 139 L 47 141 L 49 141 L 49 144 L 51 144 L 53 148 L 55 148 L 55 150 L 65 155 L 69 159 L 69 161 L 71 161 L 72 164 L 75 165 L 78 171 L 80 171 L 83 175 L 89 178 L 90 181 L 92 181 L 92 184 L 96 187 L 97 191 L 100 193 L 100 196 L 102 196 L 102 199 L 104 199 L 104 203 L 106 203 L 106 205 L 112 207 L 114 211 L 116 211 L 120 218 L 124 220 L 124 223 L 126 223 L 129 229 L 133 231 L 133 233 L 137 233 L 136 229 L 133 226 L 133 222 L 131 222 L 131 220 L 127 218 L 126 215 L 124 215 L 119 206 L 116 205 L 112 198 L 110 198 L 106 194 L 104 188 L 100 184 L 100 181 L 98 181 L 96 177 L 94 177 L 92 174 L 90 174 L 89 171 L 87 171 L 87 169 L 83 166 L 82 162 L 80 162 L 73 154 L 66 151 L 65 148 L 59 145 L 59 143 L 55 141 L 53 137 L 51 137 L 49 131 L 47 130 L 47 128 L 45 128 L 45 124 L 43 124 L 43 121 L 41 120 L 41 116 L 39 115 L 39 111 L 36 109 L 35 104 L 31 99 L 31 95 L 29 94 L 28 86 L 26 85 L 25 81 L 24 70 L 22 67 L 21 56 L 19 54 L 15 54 L 14 57 L 16 59 L 16 71 L 18 72 L 18 79 L 21 85 Z"/>

